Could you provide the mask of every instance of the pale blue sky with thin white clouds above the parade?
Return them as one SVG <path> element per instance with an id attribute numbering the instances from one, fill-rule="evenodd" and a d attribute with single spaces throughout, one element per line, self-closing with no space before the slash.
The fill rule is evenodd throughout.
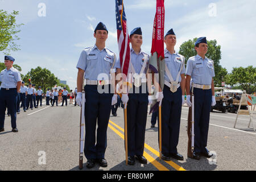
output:
<path id="1" fill-rule="evenodd" d="M 46 5 L 46 16 L 38 16 L 39 3 Z M 142 49 L 150 53 L 156 1 L 124 3 L 129 31 L 142 28 Z M 221 45 L 220 64 L 229 72 L 233 67 L 255 67 L 255 0 L 166 0 L 165 6 L 165 31 L 174 28 L 176 51 L 189 39 L 207 36 Z M 114 0 L 0 0 L 0 9 L 18 10 L 18 23 L 24 23 L 17 42 L 21 50 L 11 53 L 23 74 L 38 66 L 47 68 L 74 89 L 77 61 L 82 49 L 94 45 L 98 22 L 109 30 L 106 47 L 118 55 Z"/>

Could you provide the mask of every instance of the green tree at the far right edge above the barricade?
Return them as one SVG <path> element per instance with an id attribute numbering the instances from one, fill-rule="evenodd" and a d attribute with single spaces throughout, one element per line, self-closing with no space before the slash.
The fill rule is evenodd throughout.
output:
<path id="1" fill-rule="evenodd" d="M 253 93 L 256 89 L 256 67 L 233 68 L 232 73 L 226 77 L 230 85 L 239 85 L 246 93 Z"/>

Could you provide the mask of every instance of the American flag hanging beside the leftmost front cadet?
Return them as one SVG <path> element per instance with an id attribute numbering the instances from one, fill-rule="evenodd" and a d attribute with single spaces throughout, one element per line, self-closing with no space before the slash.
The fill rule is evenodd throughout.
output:
<path id="1" fill-rule="evenodd" d="M 117 39 L 121 71 L 127 76 L 127 73 L 130 73 L 130 38 L 123 0 L 115 0 L 115 19 L 117 20 Z"/>

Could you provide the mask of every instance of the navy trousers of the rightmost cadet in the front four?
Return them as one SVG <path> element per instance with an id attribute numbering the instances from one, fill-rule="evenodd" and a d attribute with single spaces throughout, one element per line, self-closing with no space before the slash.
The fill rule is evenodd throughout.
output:
<path id="1" fill-rule="evenodd" d="M 195 152 L 206 152 L 212 105 L 212 90 L 194 88 L 195 95 Z"/>

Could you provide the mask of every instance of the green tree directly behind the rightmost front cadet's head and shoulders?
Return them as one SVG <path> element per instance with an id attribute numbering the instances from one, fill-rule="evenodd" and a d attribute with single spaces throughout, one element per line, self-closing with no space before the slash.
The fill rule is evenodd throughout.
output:
<path id="1" fill-rule="evenodd" d="M 185 56 L 185 64 L 187 64 L 189 57 L 197 55 L 197 52 L 195 50 L 196 40 L 197 38 L 193 40 L 188 40 L 187 42 L 184 42 L 180 46 L 179 53 Z M 208 41 L 208 52 L 205 56 L 207 56 L 209 59 L 212 59 L 214 62 L 214 71 L 215 71 L 215 77 L 213 78 L 214 85 L 221 86 L 221 82 L 225 81 L 225 80 L 222 80 L 222 78 L 226 77 L 226 75 L 228 74 L 228 71 L 226 71 L 226 69 L 222 68 L 220 65 L 221 46 L 217 45 L 216 40 Z"/>

